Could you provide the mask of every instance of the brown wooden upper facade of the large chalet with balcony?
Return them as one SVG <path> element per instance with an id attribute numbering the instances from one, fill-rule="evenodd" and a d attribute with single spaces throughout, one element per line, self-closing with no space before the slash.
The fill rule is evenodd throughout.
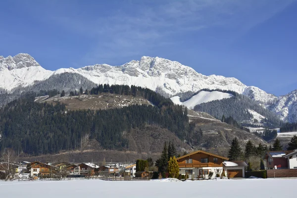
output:
<path id="1" fill-rule="evenodd" d="M 177 158 L 180 168 L 222 167 L 229 158 L 198 150 Z"/>

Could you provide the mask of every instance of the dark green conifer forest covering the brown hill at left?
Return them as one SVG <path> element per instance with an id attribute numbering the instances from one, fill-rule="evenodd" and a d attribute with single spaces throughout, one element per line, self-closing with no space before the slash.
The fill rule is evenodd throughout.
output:
<path id="1" fill-rule="evenodd" d="M 103 88 L 103 89 L 101 89 Z M 96 140 L 104 149 L 129 149 L 124 131 L 146 125 L 168 129 L 180 139 L 192 134 L 187 112 L 155 92 L 132 86 L 103 85 L 90 93 L 113 92 L 148 99 L 152 105 L 131 105 L 108 110 L 66 110 L 64 104 L 34 102 L 36 94 L 23 96 L 0 110 L 0 148 L 32 155 L 78 149 L 84 140 Z"/>

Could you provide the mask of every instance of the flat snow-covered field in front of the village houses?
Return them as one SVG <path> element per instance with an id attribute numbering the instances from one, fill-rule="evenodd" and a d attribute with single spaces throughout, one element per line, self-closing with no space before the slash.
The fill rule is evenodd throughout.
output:
<path id="1" fill-rule="evenodd" d="M 10 198 L 293 198 L 296 186 L 297 179 L 14 181 L 0 182 L 0 194 Z"/>

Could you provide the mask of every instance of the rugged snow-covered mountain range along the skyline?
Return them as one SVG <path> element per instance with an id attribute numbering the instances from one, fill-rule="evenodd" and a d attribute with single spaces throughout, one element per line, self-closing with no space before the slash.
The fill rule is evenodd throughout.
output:
<path id="1" fill-rule="evenodd" d="M 143 56 L 140 60 L 132 60 L 121 66 L 96 64 L 78 69 L 62 68 L 49 71 L 26 53 L 6 58 L 0 56 L 0 88 L 7 91 L 12 91 L 16 87 L 33 85 L 35 81 L 43 81 L 50 76 L 66 72 L 82 75 L 96 84 L 136 85 L 151 90 L 161 90 L 171 96 L 188 91 L 197 92 L 201 89 L 220 89 L 244 94 L 266 106 L 278 100 L 276 96 L 257 87 L 246 86 L 236 78 L 217 75 L 205 76 L 177 61 L 159 57 Z M 292 102 L 294 103 L 294 101 Z M 282 109 L 288 102 L 283 103 Z M 278 109 L 275 111 L 278 112 Z M 290 110 L 288 110 L 288 115 L 279 114 L 290 116 Z M 284 117 L 283 119 L 287 118 Z M 296 120 L 297 118 L 293 117 L 293 119 Z"/>

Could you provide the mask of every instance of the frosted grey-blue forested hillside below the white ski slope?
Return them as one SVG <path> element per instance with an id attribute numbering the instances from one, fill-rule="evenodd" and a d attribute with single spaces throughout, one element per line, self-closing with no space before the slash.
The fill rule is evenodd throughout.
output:
<path id="1" fill-rule="evenodd" d="M 279 117 L 273 112 L 265 109 L 246 96 L 239 94 L 236 94 L 235 97 L 229 99 L 201 103 L 194 108 L 195 111 L 207 112 L 218 119 L 221 119 L 223 115 L 225 117 L 232 116 L 238 122 L 252 120 L 253 116 L 248 109 L 254 110 L 266 118 L 261 121 L 265 127 L 276 128 L 282 124 Z"/>

